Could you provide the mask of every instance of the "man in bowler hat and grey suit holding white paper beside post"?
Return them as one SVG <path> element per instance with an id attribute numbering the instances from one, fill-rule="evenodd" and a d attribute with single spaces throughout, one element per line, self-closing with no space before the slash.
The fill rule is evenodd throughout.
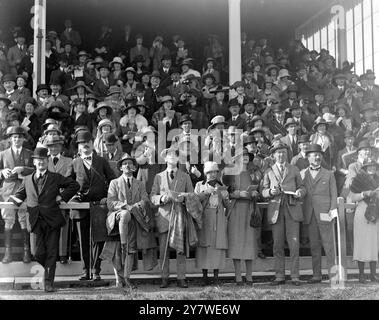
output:
<path id="1" fill-rule="evenodd" d="M 305 184 L 304 224 L 308 225 L 312 253 L 313 277 L 309 283 L 321 282 L 321 247 L 324 248 L 329 278 L 335 265 L 334 223 L 337 213 L 337 186 L 334 173 L 321 166 L 323 151 L 311 144 L 306 151 L 309 167 L 300 172 Z"/>

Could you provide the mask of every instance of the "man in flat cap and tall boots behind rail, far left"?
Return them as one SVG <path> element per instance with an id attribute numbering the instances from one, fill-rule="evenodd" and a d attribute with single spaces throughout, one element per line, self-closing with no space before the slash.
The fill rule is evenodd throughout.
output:
<path id="1" fill-rule="evenodd" d="M 9 138 L 10 147 L 0 152 L 0 181 L 2 182 L 2 186 L 0 188 L 1 201 L 8 201 L 9 196 L 14 194 L 20 187 L 24 176 L 32 173 L 34 170 L 31 159 L 33 152 L 23 147 L 23 143 L 26 138 L 25 130 L 20 126 L 9 127 L 6 132 L 6 136 Z M 15 224 L 16 213 L 23 236 L 23 261 L 25 263 L 29 263 L 31 261 L 29 234 L 30 226 L 25 209 L 1 210 L 1 216 L 5 222 L 5 254 L 2 262 L 9 263 L 12 261 L 12 229 Z"/>

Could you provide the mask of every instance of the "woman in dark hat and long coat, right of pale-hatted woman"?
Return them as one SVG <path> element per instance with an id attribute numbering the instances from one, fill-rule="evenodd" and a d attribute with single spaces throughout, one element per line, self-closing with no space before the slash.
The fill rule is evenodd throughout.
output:
<path id="1" fill-rule="evenodd" d="M 241 260 L 246 263 L 246 283 L 252 284 L 253 260 L 257 258 L 256 230 L 250 226 L 254 198 L 258 196 L 258 182 L 248 170 L 249 153 L 243 150 L 242 170 L 234 175 L 224 175 L 223 182 L 229 186 L 231 199 L 228 221 L 228 257 L 233 259 L 235 280 L 242 285 Z M 241 161 L 237 157 L 236 161 Z M 238 165 L 237 165 L 238 167 Z"/>

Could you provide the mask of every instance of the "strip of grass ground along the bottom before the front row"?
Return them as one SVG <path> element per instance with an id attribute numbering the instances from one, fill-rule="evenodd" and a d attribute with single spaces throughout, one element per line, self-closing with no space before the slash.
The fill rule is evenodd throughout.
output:
<path id="1" fill-rule="evenodd" d="M 349 281 L 344 289 L 333 289 L 328 283 L 300 287 L 284 285 L 271 287 L 268 283 L 237 287 L 223 283 L 215 287 L 200 287 L 190 283 L 188 289 L 179 289 L 172 283 L 167 289 L 158 285 L 141 284 L 137 290 L 124 293 L 115 287 L 59 288 L 53 294 L 41 290 L 3 290 L 2 300 L 379 300 L 379 284 L 361 285 Z"/>

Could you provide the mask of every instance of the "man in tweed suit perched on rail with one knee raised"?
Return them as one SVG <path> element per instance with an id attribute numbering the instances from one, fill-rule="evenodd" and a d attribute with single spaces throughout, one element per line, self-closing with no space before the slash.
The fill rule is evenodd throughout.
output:
<path id="1" fill-rule="evenodd" d="M 130 282 L 130 275 L 138 267 L 138 249 L 144 250 L 144 265 L 148 262 L 145 269 L 151 270 L 157 264 L 154 252 L 156 241 L 152 233 L 153 217 L 149 210 L 150 201 L 145 184 L 133 177 L 137 170 L 135 158 L 125 153 L 117 162 L 117 167 L 122 175 L 112 180 L 109 185 L 109 213 L 106 223 L 109 235 L 119 234 L 116 241 L 120 241 L 121 246 L 117 246 L 116 241 L 107 241 L 102 257 L 113 263 L 116 286 L 130 289 L 134 287 Z M 149 217 L 149 222 L 146 222 L 146 217 Z"/>

